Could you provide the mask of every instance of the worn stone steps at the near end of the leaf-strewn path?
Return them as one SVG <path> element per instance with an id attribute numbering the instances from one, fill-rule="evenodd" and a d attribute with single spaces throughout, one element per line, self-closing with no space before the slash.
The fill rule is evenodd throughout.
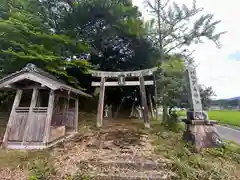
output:
<path id="1" fill-rule="evenodd" d="M 79 168 L 93 179 L 101 180 L 170 180 L 174 175 L 164 169 L 168 163 L 146 161 L 82 161 Z"/>

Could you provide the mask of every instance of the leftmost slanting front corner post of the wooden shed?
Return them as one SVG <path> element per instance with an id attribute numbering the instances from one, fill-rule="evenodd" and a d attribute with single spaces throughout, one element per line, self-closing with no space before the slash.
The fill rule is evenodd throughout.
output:
<path id="1" fill-rule="evenodd" d="M 9 135 L 9 132 L 11 130 L 12 123 L 15 120 L 16 107 L 19 106 L 21 98 L 22 98 L 22 90 L 18 89 L 17 92 L 16 92 L 16 95 L 15 95 L 12 110 L 11 110 L 11 113 L 10 113 L 10 116 L 9 116 L 9 120 L 8 120 L 8 123 L 7 123 L 5 134 L 4 134 L 4 137 L 3 137 L 3 142 L 2 142 L 3 147 L 6 147 L 6 145 L 7 145 L 8 135 Z"/>

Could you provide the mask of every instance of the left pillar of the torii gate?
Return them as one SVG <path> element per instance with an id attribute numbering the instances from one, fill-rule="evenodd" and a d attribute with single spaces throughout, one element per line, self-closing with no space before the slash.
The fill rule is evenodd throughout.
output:
<path id="1" fill-rule="evenodd" d="M 105 77 L 102 77 L 101 84 L 100 84 L 99 101 L 98 101 L 97 127 L 102 127 L 102 124 L 103 124 L 104 94 L 105 94 Z"/>

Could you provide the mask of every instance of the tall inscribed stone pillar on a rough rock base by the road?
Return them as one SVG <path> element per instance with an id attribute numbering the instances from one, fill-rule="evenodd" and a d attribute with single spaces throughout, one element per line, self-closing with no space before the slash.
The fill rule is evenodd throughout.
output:
<path id="1" fill-rule="evenodd" d="M 192 65 L 188 65 L 186 75 L 191 109 L 187 112 L 183 138 L 191 141 L 198 152 L 203 148 L 223 146 L 223 141 L 214 127 L 216 121 L 210 121 L 207 112 L 203 111 L 196 71 Z"/>

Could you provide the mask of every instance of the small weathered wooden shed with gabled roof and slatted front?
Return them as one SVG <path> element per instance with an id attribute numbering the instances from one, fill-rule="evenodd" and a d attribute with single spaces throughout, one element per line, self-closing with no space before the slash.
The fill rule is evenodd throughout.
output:
<path id="1" fill-rule="evenodd" d="M 33 64 L 0 79 L 1 89 L 16 89 L 2 146 L 43 149 L 78 131 L 78 95 L 74 89 Z"/>

